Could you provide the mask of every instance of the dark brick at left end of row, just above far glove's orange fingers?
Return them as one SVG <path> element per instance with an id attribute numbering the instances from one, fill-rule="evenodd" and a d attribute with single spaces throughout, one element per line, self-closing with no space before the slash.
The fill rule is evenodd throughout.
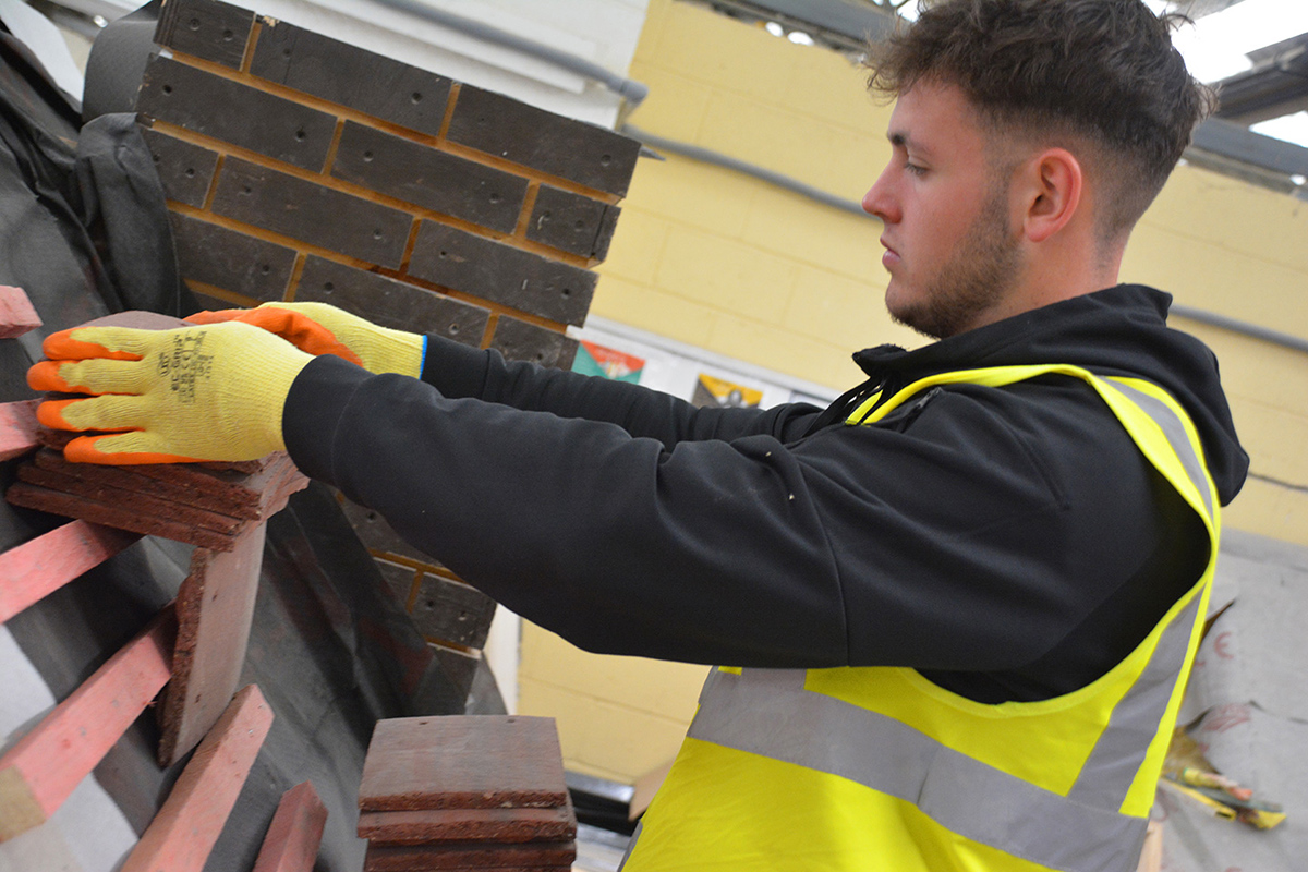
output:
<path id="1" fill-rule="evenodd" d="M 183 278 L 266 302 L 285 298 L 294 248 L 177 212 L 169 218 Z"/>

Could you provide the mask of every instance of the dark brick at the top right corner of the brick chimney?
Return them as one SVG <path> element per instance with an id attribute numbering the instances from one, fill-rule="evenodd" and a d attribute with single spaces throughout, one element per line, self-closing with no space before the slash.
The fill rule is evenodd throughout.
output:
<path id="1" fill-rule="evenodd" d="M 487 154 L 624 196 L 641 144 L 511 97 L 463 85 L 446 137 Z"/>

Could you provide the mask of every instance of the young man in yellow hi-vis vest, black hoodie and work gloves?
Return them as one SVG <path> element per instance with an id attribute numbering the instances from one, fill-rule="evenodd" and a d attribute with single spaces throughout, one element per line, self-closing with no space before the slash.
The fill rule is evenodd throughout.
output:
<path id="1" fill-rule="evenodd" d="M 629 871 L 1134 869 L 1248 467 L 1213 354 L 1116 285 L 1207 98 L 1139 0 L 944 0 L 874 85 L 887 305 L 940 341 L 824 412 L 284 305 L 52 336 L 34 386 L 119 396 L 42 420 L 139 428 L 68 448 L 102 463 L 285 446 L 582 647 L 731 664 Z"/>

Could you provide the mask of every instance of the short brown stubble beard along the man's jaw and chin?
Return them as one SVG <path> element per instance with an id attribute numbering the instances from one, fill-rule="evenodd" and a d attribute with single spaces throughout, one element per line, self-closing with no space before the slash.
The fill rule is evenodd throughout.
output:
<path id="1" fill-rule="evenodd" d="M 1006 203 L 997 193 L 940 264 L 921 298 L 891 309 L 891 319 L 931 339 L 955 336 L 971 329 L 1008 295 L 1018 282 L 1019 268 Z"/>

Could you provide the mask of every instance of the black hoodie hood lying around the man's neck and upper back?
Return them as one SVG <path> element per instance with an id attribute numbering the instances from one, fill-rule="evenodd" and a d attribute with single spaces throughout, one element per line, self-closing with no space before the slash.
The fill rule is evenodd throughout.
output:
<path id="1" fill-rule="evenodd" d="M 1171 294 L 1117 285 L 1035 309 L 914 350 L 879 345 L 854 362 L 882 390 L 957 369 L 1071 363 L 1099 375 L 1142 378 L 1189 413 L 1203 443 L 1222 505 L 1244 485 L 1249 455 L 1240 447 L 1218 375 L 1216 356 L 1167 326 Z"/>

